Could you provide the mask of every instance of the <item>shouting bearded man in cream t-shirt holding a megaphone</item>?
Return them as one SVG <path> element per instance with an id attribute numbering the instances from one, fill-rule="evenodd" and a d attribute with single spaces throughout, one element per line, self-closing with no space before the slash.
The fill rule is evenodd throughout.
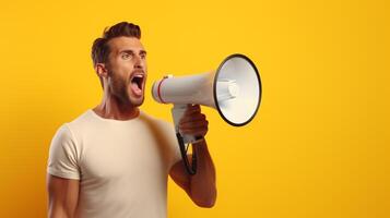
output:
<path id="1" fill-rule="evenodd" d="M 92 58 L 104 95 L 52 138 L 47 168 L 51 218 L 166 217 L 168 174 L 198 206 L 215 203 L 215 169 L 200 107 L 189 106 L 179 124 L 182 133 L 203 137 L 193 145 L 198 172 L 192 177 L 181 162 L 173 125 L 139 109 L 147 76 L 140 38 L 139 26 L 122 22 L 94 41 Z"/>

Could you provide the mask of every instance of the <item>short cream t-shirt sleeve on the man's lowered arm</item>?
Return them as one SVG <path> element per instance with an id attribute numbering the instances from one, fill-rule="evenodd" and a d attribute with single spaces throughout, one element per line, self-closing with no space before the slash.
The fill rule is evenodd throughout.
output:
<path id="1" fill-rule="evenodd" d="M 78 154 L 71 130 L 67 124 L 61 125 L 50 144 L 47 172 L 60 178 L 80 180 Z"/>

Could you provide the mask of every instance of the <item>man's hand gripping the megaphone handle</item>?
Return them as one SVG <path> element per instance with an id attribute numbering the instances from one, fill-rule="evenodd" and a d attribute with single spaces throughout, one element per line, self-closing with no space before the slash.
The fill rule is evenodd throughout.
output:
<path id="1" fill-rule="evenodd" d="M 209 122 L 201 113 L 199 105 L 188 105 L 186 112 L 179 121 L 179 130 L 182 134 L 204 137 L 209 130 Z"/>

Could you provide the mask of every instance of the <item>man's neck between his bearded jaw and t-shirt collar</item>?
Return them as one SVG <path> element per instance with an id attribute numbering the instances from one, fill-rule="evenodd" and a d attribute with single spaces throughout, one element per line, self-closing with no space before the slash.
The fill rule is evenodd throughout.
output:
<path id="1" fill-rule="evenodd" d="M 121 100 L 105 92 L 101 105 L 93 109 L 99 117 L 114 120 L 131 120 L 140 113 L 140 109 L 130 100 Z"/>

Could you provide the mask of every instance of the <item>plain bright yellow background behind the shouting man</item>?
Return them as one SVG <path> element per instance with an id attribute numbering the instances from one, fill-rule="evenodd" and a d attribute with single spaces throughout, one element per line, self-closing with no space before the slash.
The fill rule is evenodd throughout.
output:
<path id="1" fill-rule="evenodd" d="M 390 217 L 388 13 L 385 0 L 2 1 L 0 217 L 46 216 L 49 143 L 99 102 L 90 48 L 120 21 L 142 28 L 142 109 L 165 120 L 154 80 L 213 70 L 235 52 L 260 70 L 250 124 L 203 108 L 215 207 L 197 208 L 169 181 L 169 217 Z"/>

